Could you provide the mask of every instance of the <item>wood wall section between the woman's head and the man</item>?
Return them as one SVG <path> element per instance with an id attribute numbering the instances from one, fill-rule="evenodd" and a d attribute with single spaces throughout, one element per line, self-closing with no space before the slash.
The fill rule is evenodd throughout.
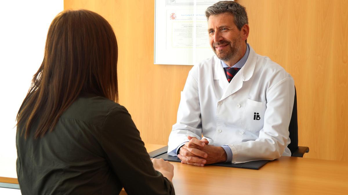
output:
<path id="1" fill-rule="evenodd" d="M 120 104 L 146 143 L 167 144 L 180 91 L 192 66 L 154 65 L 154 0 L 64 0 L 64 9 L 88 9 L 109 21 L 118 41 Z"/>

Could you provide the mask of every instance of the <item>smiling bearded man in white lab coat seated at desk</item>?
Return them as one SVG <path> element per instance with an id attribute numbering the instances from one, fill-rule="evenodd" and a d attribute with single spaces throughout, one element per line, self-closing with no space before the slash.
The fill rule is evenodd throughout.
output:
<path id="1" fill-rule="evenodd" d="M 208 7 L 206 16 L 216 55 L 189 72 L 168 154 L 196 166 L 290 156 L 293 78 L 246 43 L 243 6 L 220 1 Z"/>

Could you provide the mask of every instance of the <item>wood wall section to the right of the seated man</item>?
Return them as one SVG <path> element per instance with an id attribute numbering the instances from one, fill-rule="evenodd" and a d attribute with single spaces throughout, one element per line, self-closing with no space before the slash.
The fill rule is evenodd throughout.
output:
<path id="1" fill-rule="evenodd" d="M 248 42 L 295 80 L 305 156 L 347 161 L 348 1 L 238 2 L 248 13 Z"/>

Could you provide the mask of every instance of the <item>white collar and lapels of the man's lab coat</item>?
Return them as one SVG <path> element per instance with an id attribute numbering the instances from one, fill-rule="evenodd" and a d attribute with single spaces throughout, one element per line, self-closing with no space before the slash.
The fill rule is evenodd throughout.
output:
<path id="1" fill-rule="evenodd" d="M 225 72 L 223 70 L 221 60 L 214 56 L 214 80 L 219 80 L 219 85 L 223 89 L 224 93 L 220 100 L 225 99 L 229 95 L 235 93 L 243 86 L 243 82 L 249 80 L 254 73 L 256 64 L 256 53 L 254 49 L 249 45 L 249 56 L 245 62 L 245 65 L 238 71 L 230 83 L 226 79 Z"/>

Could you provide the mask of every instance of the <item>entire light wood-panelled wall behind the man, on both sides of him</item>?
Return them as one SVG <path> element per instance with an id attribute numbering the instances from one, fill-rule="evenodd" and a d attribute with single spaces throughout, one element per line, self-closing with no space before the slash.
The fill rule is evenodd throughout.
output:
<path id="1" fill-rule="evenodd" d="M 239 0 L 248 42 L 294 78 L 305 157 L 348 160 L 348 1 Z M 112 25 L 119 44 L 119 93 L 144 142 L 167 144 L 191 66 L 154 65 L 154 0 L 64 0 Z"/>

